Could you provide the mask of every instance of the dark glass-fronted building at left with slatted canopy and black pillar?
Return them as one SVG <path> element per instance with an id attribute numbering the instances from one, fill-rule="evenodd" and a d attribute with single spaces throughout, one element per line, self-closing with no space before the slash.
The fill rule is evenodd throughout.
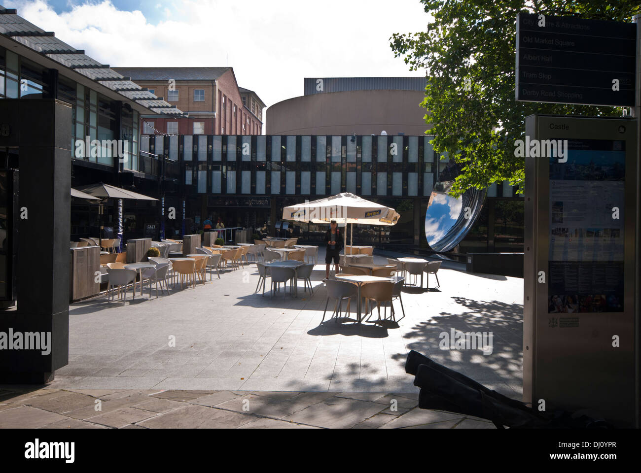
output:
<path id="1" fill-rule="evenodd" d="M 47 351 L 0 346 L 3 382 L 45 383 L 67 364 L 69 242 L 88 206 L 72 205 L 71 186 L 144 182 L 154 166 L 138 123 L 156 114 L 183 112 L 0 6 L 0 306 L 17 300 L 0 332 L 51 341 Z M 100 213 L 108 221 L 113 208 L 94 204 L 76 238 L 106 236 Z"/>

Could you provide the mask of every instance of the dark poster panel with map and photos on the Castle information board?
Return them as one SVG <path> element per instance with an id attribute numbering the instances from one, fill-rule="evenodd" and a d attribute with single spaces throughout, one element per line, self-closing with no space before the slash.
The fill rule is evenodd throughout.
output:
<path id="1" fill-rule="evenodd" d="M 549 313 L 622 312 L 624 140 L 568 140 L 549 167 Z"/>

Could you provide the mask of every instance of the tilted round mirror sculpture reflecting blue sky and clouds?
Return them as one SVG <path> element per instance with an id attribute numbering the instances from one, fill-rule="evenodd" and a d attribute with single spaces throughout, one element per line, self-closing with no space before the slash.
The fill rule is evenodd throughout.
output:
<path id="1" fill-rule="evenodd" d="M 444 252 L 460 243 L 478 217 L 485 190 L 469 189 L 461 197 L 447 195 L 451 181 L 437 183 L 425 214 L 425 237 L 434 251 Z"/>

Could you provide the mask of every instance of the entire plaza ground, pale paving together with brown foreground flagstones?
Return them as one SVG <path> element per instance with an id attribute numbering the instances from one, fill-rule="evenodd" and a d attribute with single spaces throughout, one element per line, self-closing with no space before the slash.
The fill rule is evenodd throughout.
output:
<path id="1" fill-rule="evenodd" d="M 381 267 L 403 258 L 374 253 Z M 138 285 L 135 299 L 129 288 L 126 301 L 103 294 L 71 304 L 69 365 L 44 389 L 3 392 L 0 427 L 31 417 L 53 427 L 494 427 L 419 409 L 419 389 L 404 369 L 412 349 L 520 398 L 522 279 L 470 274 L 445 261 L 438 288 L 429 274 L 422 288 L 420 277 L 403 286 L 403 308 L 393 302 L 397 322 L 389 307 L 379 320 L 374 306 L 359 323 L 354 300 L 338 318 L 331 300 L 324 313 L 324 248 L 317 256 L 313 294 L 300 279 L 297 294 L 284 286 L 269 294 L 268 277 L 263 295 L 258 256 L 223 265 L 219 275 L 214 269 L 195 286 L 168 278 L 169 294 L 158 297 L 148 285 L 141 296 Z M 451 329 L 492 332 L 492 353 L 440 349 L 440 334 Z M 111 407 L 96 413 L 94 398 Z M 243 399 L 256 408 L 244 413 Z M 390 399 L 398 410 L 390 411 Z"/>

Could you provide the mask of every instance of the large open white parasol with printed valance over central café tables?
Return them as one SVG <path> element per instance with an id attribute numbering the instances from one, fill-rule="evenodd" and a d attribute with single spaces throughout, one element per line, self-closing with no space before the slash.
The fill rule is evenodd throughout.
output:
<path id="1" fill-rule="evenodd" d="M 358 197 L 349 192 L 283 208 L 283 220 L 305 223 L 329 223 L 331 220 L 351 224 L 349 245 L 353 243 L 354 224 L 392 226 L 399 215 L 393 208 Z M 351 253 L 351 248 L 350 248 Z"/>

